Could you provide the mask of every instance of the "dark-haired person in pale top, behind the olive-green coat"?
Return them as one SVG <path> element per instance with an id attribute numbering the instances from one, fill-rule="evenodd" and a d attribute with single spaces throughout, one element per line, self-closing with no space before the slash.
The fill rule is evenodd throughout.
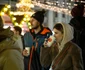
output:
<path id="1" fill-rule="evenodd" d="M 13 29 L 14 29 L 13 30 L 14 34 L 19 37 L 19 40 L 21 40 L 19 44 L 21 45 L 21 49 L 23 50 L 24 49 L 24 40 L 23 40 L 23 36 L 21 35 L 22 29 L 19 26 L 14 26 Z"/>

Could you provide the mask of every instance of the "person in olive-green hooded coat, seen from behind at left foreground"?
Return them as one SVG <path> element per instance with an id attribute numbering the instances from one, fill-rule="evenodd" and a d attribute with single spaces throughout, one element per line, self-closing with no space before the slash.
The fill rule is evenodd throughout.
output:
<path id="1" fill-rule="evenodd" d="M 23 56 L 17 39 L 10 27 L 3 28 L 0 16 L 0 70 L 24 70 Z"/>

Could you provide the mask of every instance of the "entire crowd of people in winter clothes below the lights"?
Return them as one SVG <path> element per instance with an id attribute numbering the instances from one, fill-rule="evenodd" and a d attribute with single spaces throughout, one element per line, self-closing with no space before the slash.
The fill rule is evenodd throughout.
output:
<path id="1" fill-rule="evenodd" d="M 68 24 L 56 22 L 53 33 L 43 26 L 45 12 L 31 16 L 32 28 L 23 36 L 19 26 L 4 29 L 0 16 L 0 70 L 84 70 L 84 5 L 72 9 Z M 55 41 L 48 46 L 50 36 Z"/>

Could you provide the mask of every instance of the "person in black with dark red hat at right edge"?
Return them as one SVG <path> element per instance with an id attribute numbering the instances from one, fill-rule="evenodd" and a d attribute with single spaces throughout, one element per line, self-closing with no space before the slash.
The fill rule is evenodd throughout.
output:
<path id="1" fill-rule="evenodd" d="M 74 28 L 74 38 L 72 41 L 79 45 L 79 47 L 82 49 L 83 61 L 85 63 L 85 17 L 83 16 L 84 5 L 78 4 L 77 6 L 74 6 L 71 10 L 71 15 L 73 18 L 70 20 L 69 24 Z"/>

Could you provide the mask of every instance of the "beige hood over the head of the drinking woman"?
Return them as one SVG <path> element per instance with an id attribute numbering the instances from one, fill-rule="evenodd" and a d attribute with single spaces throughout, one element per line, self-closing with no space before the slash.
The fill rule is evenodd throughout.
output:
<path id="1" fill-rule="evenodd" d="M 59 50 L 61 51 L 64 45 L 73 39 L 74 30 L 73 27 L 69 24 L 66 23 L 58 23 L 58 24 L 61 24 L 63 26 L 63 39 L 59 44 Z"/>

